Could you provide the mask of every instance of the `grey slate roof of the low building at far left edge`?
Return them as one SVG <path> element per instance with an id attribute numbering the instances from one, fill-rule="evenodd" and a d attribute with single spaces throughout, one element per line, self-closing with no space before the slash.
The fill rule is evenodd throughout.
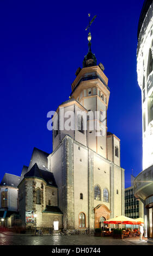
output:
<path id="1" fill-rule="evenodd" d="M 3 176 L 3 179 L 0 183 L 0 186 L 17 187 L 20 182 L 21 182 L 20 176 L 5 173 L 4 176 Z"/>

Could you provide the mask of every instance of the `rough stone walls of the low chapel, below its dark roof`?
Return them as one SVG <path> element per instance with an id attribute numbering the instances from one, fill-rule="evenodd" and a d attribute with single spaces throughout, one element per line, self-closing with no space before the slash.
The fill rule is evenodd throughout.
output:
<path id="1" fill-rule="evenodd" d="M 36 200 L 36 191 L 40 190 L 40 203 Z M 26 228 L 53 228 L 53 222 L 59 222 L 59 228 L 63 227 L 62 214 L 46 211 L 46 205 L 58 206 L 58 188 L 48 186 L 45 181 L 37 178 L 24 178 L 19 184 L 19 213 L 22 226 Z M 26 222 L 26 212 L 34 211 L 36 220 L 34 223 Z M 35 223 L 36 221 L 36 223 Z"/>

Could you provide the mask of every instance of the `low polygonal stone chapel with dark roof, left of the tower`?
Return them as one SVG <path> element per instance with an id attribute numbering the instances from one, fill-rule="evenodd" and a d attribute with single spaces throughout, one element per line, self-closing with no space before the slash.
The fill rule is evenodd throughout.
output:
<path id="1" fill-rule="evenodd" d="M 19 184 L 19 214 L 22 227 L 33 230 L 63 227 L 62 211 L 58 208 L 58 188 L 53 173 L 38 164 L 24 175 Z"/>

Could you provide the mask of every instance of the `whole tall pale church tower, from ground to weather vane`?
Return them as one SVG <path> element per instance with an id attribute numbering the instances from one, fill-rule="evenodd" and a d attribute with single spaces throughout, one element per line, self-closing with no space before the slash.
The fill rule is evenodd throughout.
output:
<path id="1" fill-rule="evenodd" d="M 93 20 L 88 26 L 88 53 L 83 67 L 76 71 L 69 100 L 57 108 L 53 117 L 53 152 L 48 156 L 48 170 L 58 186 L 63 227 L 82 232 L 125 213 L 120 139 L 107 131 L 110 91 L 104 67 L 97 65 L 91 51 Z M 74 127 L 69 127 L 70 123 Z"/>

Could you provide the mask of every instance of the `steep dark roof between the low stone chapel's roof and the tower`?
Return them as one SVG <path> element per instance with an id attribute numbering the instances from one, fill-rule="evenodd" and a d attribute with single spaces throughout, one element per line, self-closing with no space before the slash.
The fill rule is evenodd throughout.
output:
<path id="1" fill-rule="evenodd" d="M 30 164 L 29 164 L 29 167 L 28 167 L 28 171 L 34 166 L 35 163 L 37 163 L 38 167 L 41 169 L 41 170 L 47 170 L 48 168 L 48 153 L 40 150 L 40 149 L 37 149 L 37 148 L 34 148 L 33 149 L 33 153 L 32 153 L 32 157 L 31 157 L 31 160 L 30 160 Z"/>

